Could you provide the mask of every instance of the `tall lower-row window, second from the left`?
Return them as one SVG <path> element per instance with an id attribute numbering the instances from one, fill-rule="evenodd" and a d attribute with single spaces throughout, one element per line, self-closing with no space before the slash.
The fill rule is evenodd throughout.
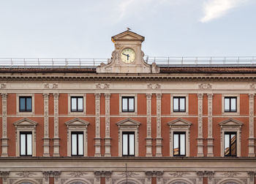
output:
<path id="1" fill-rule="evenodd" d="M 83 156 L 83 131 L 73 131 L 71 136 L 72 156 Z"/>

